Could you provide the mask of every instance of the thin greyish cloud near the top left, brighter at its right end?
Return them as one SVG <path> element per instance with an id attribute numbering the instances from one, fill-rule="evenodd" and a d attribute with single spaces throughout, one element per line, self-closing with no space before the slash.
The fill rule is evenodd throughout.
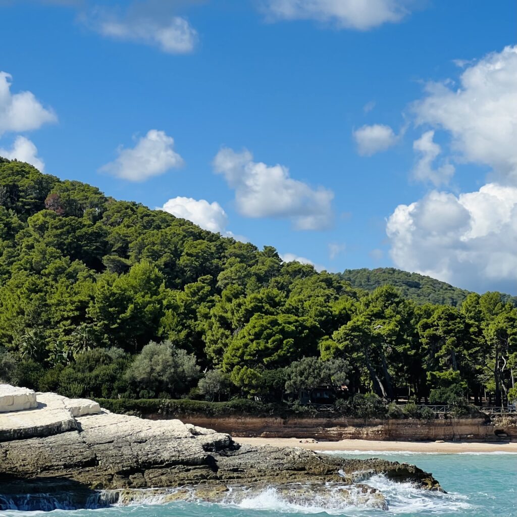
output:
<path id="1" fill-rule="evenodd" d="M 163 10 L 135 9 L 135 5 L 123 13 L 98 7 L 83 21 L 102 36 L 153 45 L 170 54 L 194 50 L 197 32 L 185 18 Z"/>

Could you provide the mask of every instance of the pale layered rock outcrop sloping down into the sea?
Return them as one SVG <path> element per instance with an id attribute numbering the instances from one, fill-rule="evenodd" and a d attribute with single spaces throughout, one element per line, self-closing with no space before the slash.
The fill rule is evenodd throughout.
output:
<path id="1" fill-rule="evenodd" d="M 179 420 L 118 415 L 54 393 L 36 396 L 36 408 L 0 413 L 0 510 L 28 499 L 40 510 L 129 504 L 143 489 L 165 501 L 219 502 L 238 498 L 243 488 L 271 485 L 286 494 L 302 486 L 299 496 L 332 493 L 386 509 L 384 496 L 368 486 L 374 474 L 442 490 L 414 465 L 238 445 L 229 434 Z"/>

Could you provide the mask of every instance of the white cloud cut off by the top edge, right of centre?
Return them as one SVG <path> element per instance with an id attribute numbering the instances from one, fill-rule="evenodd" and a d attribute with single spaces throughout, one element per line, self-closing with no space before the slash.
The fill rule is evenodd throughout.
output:
<path id="1" fill-rule="evenodd" d="M 361 31 L 399 22 L 408 13 L 403 0 L 265 0 L 269 17 L 317 20 Z"/>

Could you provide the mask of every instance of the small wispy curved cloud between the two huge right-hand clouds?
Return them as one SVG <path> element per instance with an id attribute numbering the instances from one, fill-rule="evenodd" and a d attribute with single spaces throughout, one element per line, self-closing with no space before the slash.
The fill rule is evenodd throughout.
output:
<path id="1" fill-rule="evenodd" d="M 434 142 L 434 131 L 426 131 L 413 142 L 413 149 L 419 154 L 419 160 L 413 169 L 413 177 L 419 181 L 431 181 L 438 187 L 449 183 L 454 175 L 454 165 L 447 160 L 437 169 L 433 169 L 433 162 L 442 152 L 442 148 Z"/>

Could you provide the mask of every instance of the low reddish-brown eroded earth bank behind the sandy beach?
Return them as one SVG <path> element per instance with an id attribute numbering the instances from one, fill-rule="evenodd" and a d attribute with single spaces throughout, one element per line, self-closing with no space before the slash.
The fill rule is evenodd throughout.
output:
<path id="1" fill-rule="evenodd" d="M 146 418 L 163 418 L 146 415 Z M 517 425 L 505 420 L 486 423 L 483 418 L 446 420 L 376 420 L 356 418 L 275 418 L 235 416 L 225 418 L 180 416 L 181 420 L 234 436 L 262 438 L 316 438 L 318 440 L 469 440 L 517 441 Z M 503 436 L 501 436 L 501 434 Z"/>

